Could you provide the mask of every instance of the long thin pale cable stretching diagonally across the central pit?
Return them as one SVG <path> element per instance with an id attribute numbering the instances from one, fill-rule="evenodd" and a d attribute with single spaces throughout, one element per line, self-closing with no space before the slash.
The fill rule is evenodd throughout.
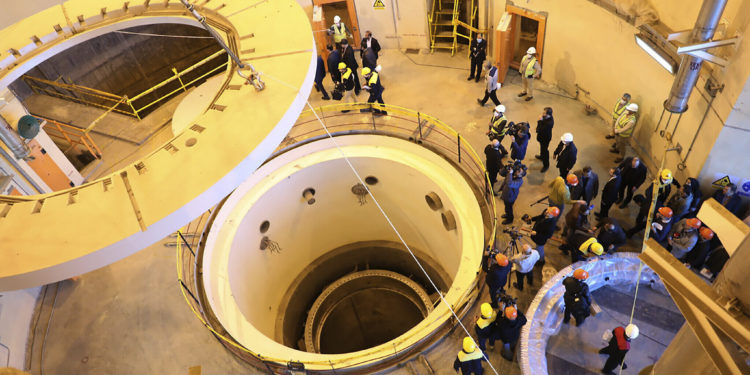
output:
<path id="1" fill-rule="evenodd" d="M 280 79 L 278 79 L 278 78 L 276 78 L 276 77 L 274 77 L 272 75 L 269 75 L 267 73 L 264 73 L 264 75 L 267 76 L 267 77 L 269 77 L 269 78 L 271 78 L 271 79 L 276 80 L 277 82 L 279 82 L 279 83 L 281 83 L 281 84 L 283 84 L 283 85 L 285 85 L 285 86 L 287 86 L 289 88 L 291 88 L 292 90 L 296 90 L 298 92 L 300 91 L 298 88 L 295 88 L 294 86 L 292 86 L 292 85 L 290 85 L 290 84 L 288 84 L 288 83 L 286 83 L 286 82 L 284 82 L 284 81 L 282 81 L 282 80 L 280 80 Z M 461 328 L 464 330 L 464 332 L 466 332 L 466 336 L 467 337 L 471 337 L 471 334 L 469 333 L 469 330 L 466 329 L 466 326 L 464 326 L 463 322 L 461 321 L 461 318 L 458 317 L 458 314 L 456 314 L 456 312 L 453 310 L 453 308 L 448 303 L 448 301 L 445 300 L 445 296 L 443 296 L 443 292 L 440 291 L 440 289 L 437 287 L 437 284 L 435 284 L 435 282 L 432 280 L 432 278 L 430 278 L 430 275 L 427 273 L 427 270 L 424 268 L 424 266 L 422 266 L 422 263 L 419 262 L 419 259 L 417 258 L 417 256 L 414 254 L 414 252 L 411 250 L 411 248 L 406 243 L 406 241 L 404 240 L 404 238 L 401 236 L 401 232 L 399 232 L 398 229 L 396 229 L 396 226 L 393 224 L 393 222 L 391 221 L 390 217 L 388 217 L 388 214 L 385 213 L 385 210 L 383 210 L 383 207 L 380 205 L 380 202 L 378 202 L 378 200 L 375 198 L 375 195 L 372 194 L 372 191 L 370 191 L 370 188 L 367 187 L 367 184 L 365 184 L 365 181 L 362 179 L 362 177 L 359 175 L 359 173 L 357 172 L 357 170 L 354 168 L 354 165 L 352 165 L 351 161 L 349 160 L 349 157 L 346 156 L 346 153 L 344 153 L 344 150 L 341 149 L 341 146 L 338 144 L 338 142 L 336 142 L 336 139 L 333 137 L 333 135 L 331 134 L 331 132 L 328 131 L 328 127 L 323 123 L 323 120 L 320 119 L 320 116 L 318 116 L 318 112 L 315 111 L 315 108 L 313 108 L 313 106 L 312 106 L 312 104 L 310 104 L 309 100 L 307 101 L 306 104 L 310 108 L 310 110 L 312 111 L 313 115 L 315 115 L 315 118 L 318 120 L 318 122 L 320 123 L 321 127 L 323 128 L 323 130 L 328 135 L 328 138 L 331 140 L 331 142 L 333 142 L 333 145 L 336 147 L 336 149 L 339 151 L 339 153 L 341 153 L 341 156 L 344 157 L 344 161 L 346 161 L 346 164 L 349 165 L 349 169 L 352 170 L 352 173 L 354 173 L 354 176 L 357 177 L 357 180 L 359 180 L 359 183 L 362 186 L 365 187 L 365 190 L 367 190 L 367 194 L 370 196 L 370 198 L 372 198 L 372 201 L 375 203 L 375 206 L 378 208 L 378 210 L 380 211 L 380 213 L 383 215 L 383 217 L 385 218 L 385 220 L 388 222 L 388 225 L 391 227 L 391 229 L 393 229 L 393 232 L 396 233 L 396 236 L 401 241 L 401 243 L 404 245 L 404 247 L 406 248 L 406 250 L 409 251 L 409 254 L 414 259 L 414 262 L 417 263 L 417 266 L 419 266 L 419 269 L 422 270 L 422 273 L 424 273 L 425 277 L 427 278 L 427 280 L 432 285 L 432 288 L 435 289 L 435 291 L 437 292 L 438 296 L 440 297 L 440 300 L 443 302 L 443 304 L 445 304 L 445 306 L 451 312 L 451 314 L 453 315 L 453 317 L 456 318 L 456 322 L 458 323 L 458 325 L 461 326 Z M 474 345 L 477 345 L 476 340 L 474 340 L 473 337 L 471 337 L 471 340 L 474 341 Z M 492 362 L 490 362 L 490 359 L 487 358 L 487 355 L 483 351 L 482 351 L 482 357 L 484 358 L 485 361 L 487 361 L 487 364 L 492 369 L 492 372 L 494 372 L 495 375 L 500 375 L 497 372 L 497 370 L 495 369 L 495 366 L 492 365 Z"/>

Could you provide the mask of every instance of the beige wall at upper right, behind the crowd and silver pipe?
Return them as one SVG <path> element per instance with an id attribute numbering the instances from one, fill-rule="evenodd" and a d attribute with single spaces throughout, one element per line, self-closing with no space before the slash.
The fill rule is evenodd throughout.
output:
<path id="1" fill-rule="evenodd" d="M 502 3 L 499 1 L 494 4 L 491 25 L 493 27 L 502 16 Z M 701 4 L 700 1 L 679 0 L 652 3 L 667 26 L 675 30 L 691 28 Z M 655 134 L 654 130 L 674 77 L 635 44 L 635 27 L 587 0 L 528 0 L 516 1 L 515 4 L 535 12 L 548 13 L 542 80 L 560 87 L 571 95 L 575 95 L 575 87 L 578 84 L 590 92 L 590 95 L 581 92 L 580 100 L 589 104 L 596 103 L 600 114 L 605 117 L 614 101 L 623 92 L 632 94 L 634 101 L 641 107 L 633 143 L 639 153 L 652 155 L 651 160 L 647 160 L 652 166 L 660 162 L 667 142 Z M 729 35 L 733 35 L 735 31 L 747 33 L 749 4 L 746 0 L 729 0 L 723 16 Z M 480 1 L 480 6 L 483 5 Z M 714 169 L 719 166 L 711 162 L 706 163 L 704 168 L 704 162 L 712 148 L 715 148 L 714 144 L 723 132 L 726 119 L 733 111 L 748 111 L 747 101 L 738 102 L 738 98 L 750 75 L 750 64 L 747 63 L 750 57 L 750 41 L 745 38 L 739 51 L 731 52 L 734 55 L 726 68 L 704 64 L 703 77 L 696 85 L 689 109 L 680 121 L 673 140 L 685 150 L 681 155 L 670 153 L 665 163 L 667 167 L 675 170 L 679 179 L 701 174 L 704 178 L 701 182 L 707 183 L 706 179 L 712 178 Z M 706 116 L 692 153 L 686 160 L 686 170 L 679 172 L 677 164 L 686 154 L 707 108 L 709 97 L 704 92 L 703 85 L 709 69 L 715 69 L 713 75 L 726 87 L 717 96 L 713 109 L 709 110 Z M 676 120 L 677 116 L 674 116 L 670 131 L 674 128 Z M 664 123 L 661 126 L 661 129 L 663 128 Z M 734 131 L 726 138 L 729 142 L 722 142 L 721 150 L 733 154 L 738 154 L 750 144 L 750 133 L 747 131 Z M 747 159 L 735 159 L 737 162 L 733 167 L 738 170 L 750 170 Z"/>

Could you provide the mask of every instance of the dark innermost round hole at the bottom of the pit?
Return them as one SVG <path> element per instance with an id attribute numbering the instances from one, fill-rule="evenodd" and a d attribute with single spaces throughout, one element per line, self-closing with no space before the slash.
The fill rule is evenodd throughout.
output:
<path id="1" fill-rule="evenodd" d="M 385 288 L 355 290 L 321 323 L 320 352 L 350 353 L 380 345 L 408 331 L 424 316 L 419 306 Z"/>

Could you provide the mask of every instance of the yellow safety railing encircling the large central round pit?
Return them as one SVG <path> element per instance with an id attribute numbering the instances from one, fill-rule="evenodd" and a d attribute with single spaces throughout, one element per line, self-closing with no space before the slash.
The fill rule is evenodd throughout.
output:
<path id="1" fill-rule="evenodd" d="M 376 106 L 388 111 L 389 116 L 375 116 L 372 109 Z M 349 110 L 350 112 L 342 113 L 342 110 Z M 370 110 L 370 113 L 361 114 L 359 110 Z M 494 246 L 497 215 L 495 199 L 490 188 L 488 174 L 486 173 L 482 159 L 476 151 L 453 128 L 432 116 L 393 105 L 342 103 L 318 107 L 315 108 L 315 112 L 313 113 L 308 110 L 300 114 L 297 123 L 292 127 L 284 142 L 277 148 L 272 157 L 306 142 L 327 136 L 325 130 L 318 123 L 318 117 L 326 123 L 326 127 L 334 136 L 351 133 L 381 134 L 408 139 L 417 144 L 427 146 L 452 161 L 454 165 L 458 166 L 476 183 L 484 185 L 481 188 L 483 192 L 480 195 L 485 202 L 482 210 L 483 215 L 486 216 L 485 222 L 487 223 L 486 246 Z M 473 185 L 477 187 L 476 184 Z M 200 262 L 198 260 L 201 251 L 199 249 L 200 239 L 205 235 L 208 223 L 211 221 L 210 214 L 211 212 L 209 211 L 186 228 L 183 228 L 183 230 L 178 231 L 174 236 L 176 238 L 175 247 L 177 249 L 177 277 L 182 295 L 193 314 L 229 350 L 259 368 L 268 371 L 268 373 L 288 373 L 286 372 L 288 371 L 287 363 L 291 360 L 290 358 L 273 358 L 264 356 L 262 353 L 253 352 L 234 340 L 228 333 L 223 331 L 220 325 L 215 327 L 210 323 L 212 320 L 208 318 L 210 313 L 204 309 L 200 300 L 202 294 L 198 286 L 200 280 L 198 280 L 197 276 L 200 274 Z M 477 249 L 477 251 L 483 250 Z M 479 275 L 479 272 L 477 272 L 477 275 Z M 477 276 L 474 280 L 474 287 L 467 288 L 464 295 L 451 306 L 459 316 L 465 316 L 471 308 L 473 301 L 478 296 L 481 284 L 481 280 Z M 432 317 L 432 320 L 429 322 L 430 326 L 441 321 L 444 322 L 440 328 L 433 331 L 433 334 L 443 332 L 445 329 L 452 327 L 455 321 L 450 318 L 450 312 Z M 412 347 L 404 347 L 400 351 L 395 351 L 397 347 L 405 342 L 409 342 L 414 336 L 419 334 L 423 333 L 414 332 L 399 336 L 394 342 L 393 354 L 400 355 L 413 350 Z M 347 367 L 361 366 L 372 361 L 371 359 L 366 360 L 364 357 L 365 355 L 363 354 L 362 362 L 355 364 L 350 363 L 352 360 L 351 357 L 347 358 L 347 361 L 350 363 Z M 336 361 L 304 361 L 302 364 L 307 366 L 331 366 L 331 368 L 340 365 Z M 340 367 L 336 367 L 336 369 L 340 369 Z"/>

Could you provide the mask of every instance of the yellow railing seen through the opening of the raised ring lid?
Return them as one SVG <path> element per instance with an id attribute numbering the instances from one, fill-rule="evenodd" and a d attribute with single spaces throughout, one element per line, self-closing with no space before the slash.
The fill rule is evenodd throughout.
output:
<path id="1" fill-rule="evenodd" d="M 89 126 L 87 131 L 91 131 L 93 127 L 102 119 L 104 116 L 106 116 L 110 112 L 117 112 L 128 116 L 133 116 L 137 119 L 141 119 L 142 112 L 145 111 L 148 108 L 153 107 L 157 103 L 160 103 L 167 98 L 171 97 L 177 92 L 180 91 L 187 91 L 187 89 L 194 83 L 200 81 L 203 78 L 206 78 L 207 76 L 210 76 L 211 74 L 216 73 L 218 70 L 222 68 L 226 68 L 229 64 L 229 60 L 223 62 L 222 64 L 216 66 L 215 68 L 209 70 L 206 73 L 203 73 L 188 82 L 184 82 L 183 78 L 188 74 L 193 72 L 194 70 L 202 67 L 203 65 L 209 63 L 211 60 L 221 56 L 221 54 L 226 53 L 224 49 L 221 49 L 219 51 L 216 51 L 215 53 L 211 54 L 210 56 L 202 59 L 201 61 L 198 61 L 197 63 L 185 68 L 182 71 L 177 71 L 176 68 L 172 68 L 173 76 L 157 83 L 153 87 L 141 92 L 140 94 L 129 98 L 127 95 L 116 95 L 112 93 L 108 93 L 106 91 L 101 91 L 97 89 L 92 89 L 90 87 L 75 85 L 75 84 L 69 84 L 69 83 L 60 83 L 56 81 L 50 81 L 42 78 L 37 78 L 33 76 L 24 75 L 23 80 L 26 82 L 27 85 L 31 88 L 32 91 L 34 91 L 37 94 L 44 94 L 49 95 L 53 97 L 58 97 L 61 99 L 70 100 L 75 103 L 80 103 L 84 105 L 89 105 L 92 107 L 98 107 L 106 109 L 107 112 L 99 116 L 92 124 Z M 165 87 L 166 85 L 177 81 L 179 83 L 179 86 L 171 90 L 170 92 L 160 95 L 158 98 L 152 100 L 149 103 L 146 103 L 145 105 L 138 106 L 136 105 L 136 101 L 144 99 L 146 95 L 154 93 L 160 88 Z M 62 92 L 61 92 L 62 91 Z"/>

